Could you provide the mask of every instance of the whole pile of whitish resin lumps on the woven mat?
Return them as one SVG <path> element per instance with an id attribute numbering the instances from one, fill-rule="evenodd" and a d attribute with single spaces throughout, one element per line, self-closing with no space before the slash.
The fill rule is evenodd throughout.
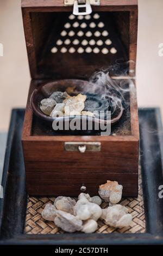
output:
<path id="1" fill-rule="evenodd" d="M 99 195 L 108 202 L 108 208 L 100 207 L 102 199 L 97 195 L 90 197 L 89 194 L 80 193 L 77 201 L 70 197 L 57 197 L 54 205 L 47 204 L 41 215 L 68 233 L 93 233 L 98 228 L 99 218 L 114 228 L 128 227 L 132 216 L 126 207 L 117 204 L 122 197 L 122 188 L 116 181 L 107 181 L 99 186 Z"/>

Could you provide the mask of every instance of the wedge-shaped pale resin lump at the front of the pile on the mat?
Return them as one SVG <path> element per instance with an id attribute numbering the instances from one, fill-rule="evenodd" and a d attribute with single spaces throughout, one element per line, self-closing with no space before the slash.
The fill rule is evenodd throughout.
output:
<path id="1" fill-rule="evenodd" d="M 82 230 L 83 222 L 77 216 L 60 210 L 56 211 L 56 215 L 54 223 L 62 230 L 69 233 Z"/>

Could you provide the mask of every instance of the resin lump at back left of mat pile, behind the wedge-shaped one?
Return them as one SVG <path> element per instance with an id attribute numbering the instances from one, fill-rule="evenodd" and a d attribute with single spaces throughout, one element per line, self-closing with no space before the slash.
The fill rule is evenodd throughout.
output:
<path id="1" fill-rule="evenodd" d="M 55 207 L 57 210 L 65 211 L 73 214 L 74 205 L 76 205 L 76 200 L 70 197 L 63 197 L 55 202 Z"/>

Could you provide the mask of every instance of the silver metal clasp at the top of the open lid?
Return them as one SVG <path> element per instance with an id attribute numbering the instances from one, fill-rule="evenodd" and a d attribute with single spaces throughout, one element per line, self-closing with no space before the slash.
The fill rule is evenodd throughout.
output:
<path id="1" fill-rule="evenodd" d="M 92 13 L 91 5 L 100 5 L 100 0 L 64 0 L 64 4 L 73 5 L 74 15 L 87 15 Z"/>

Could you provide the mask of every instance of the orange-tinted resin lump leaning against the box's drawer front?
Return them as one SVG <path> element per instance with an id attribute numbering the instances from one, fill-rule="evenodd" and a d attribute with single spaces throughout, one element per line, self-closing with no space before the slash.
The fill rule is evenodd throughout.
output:
<path id="1" fill-rule="evenodd" d="M 123 186 L 119 185 L 117 181 L 107 181 L 99 186 L 98 193 L 106 202 L 117 204 L 122 198 L 122 189 Z"/>

